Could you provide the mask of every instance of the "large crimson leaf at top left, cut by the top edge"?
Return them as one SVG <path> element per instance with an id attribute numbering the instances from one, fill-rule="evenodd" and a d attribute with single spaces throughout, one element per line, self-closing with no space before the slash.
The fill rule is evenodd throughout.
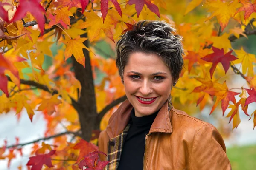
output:
<path id="1" fill-rule="evenodd" d="M 20 20 L 26 16 L 27 12 L 30 12 L 35 17 L 41 34 L 43 35 L 45 23 L 44 14 L 46 14 L 46 12 L 38 0 L 20 0 L 20 4 L 10 22 Z"/>

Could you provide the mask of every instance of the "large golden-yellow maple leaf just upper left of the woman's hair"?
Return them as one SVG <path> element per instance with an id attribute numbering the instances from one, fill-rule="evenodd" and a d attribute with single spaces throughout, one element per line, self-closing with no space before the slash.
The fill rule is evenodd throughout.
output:
<path id="1" fill-rule="evenodd" d="M 99 35 L 100 30 L 103 30 L 105 35 L 113 42 L 115 42 L 113 39 L 113 33 L 111 31 L 110 25 L 119 23 L 119 21 L 111 20 L 109 17 L 107 17 L 105 22 L 102 23 L 102 17 L 99 17 L 97 14 L 94 13 L 94 11 L 84 12 L 84 15 L 86 17 L 86 22 L 82 23 L 80 27 L 91 27 L 91 29 L 88 30 L 88 37 L 91 37 L 91 42 Z"/>

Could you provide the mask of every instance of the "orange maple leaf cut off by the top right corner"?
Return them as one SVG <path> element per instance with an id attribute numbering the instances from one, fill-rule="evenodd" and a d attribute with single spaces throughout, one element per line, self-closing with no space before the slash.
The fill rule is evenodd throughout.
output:
<path id="1" fill-rule="evenodd" d="M 254 1 L 254 3 L 250 3 L 247 0 L 240 0 L 240 3 L 243 6 L 239 8 L 234 15 L 240 11 L 244 11 L 244 20 L 247 20 L 253 12 L 256 12 L 256 1 Z"/>

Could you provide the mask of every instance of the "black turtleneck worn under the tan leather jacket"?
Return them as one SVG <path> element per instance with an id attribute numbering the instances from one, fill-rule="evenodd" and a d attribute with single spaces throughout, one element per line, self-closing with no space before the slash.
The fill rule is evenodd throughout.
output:
<path id="1" fill-rule="evenodd" d="M 122 148 L 118 170 L 143 170 L 145 136 L 148 134 L 157 112 L 143 117 L 136 117 L 131 111 L 131 124 Z"/>

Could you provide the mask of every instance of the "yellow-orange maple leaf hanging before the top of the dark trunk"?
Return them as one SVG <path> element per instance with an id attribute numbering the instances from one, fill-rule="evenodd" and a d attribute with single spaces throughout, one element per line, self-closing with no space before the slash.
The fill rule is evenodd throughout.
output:
<path id="1" fill-rule="evenodd" d="M 90 49 L 83 44 L 83 42 L 87 39 L 88 38 L 81 38 L 80 36 L 78 36 L 75 39 L 62 40 L 61 42 L 67 45 L 64 52 L 65 61 L 73 54 L 76 58 L 76 61 L 83 65 L 85 68 L 85 57 L 82 49 L 85 48 L 90 51 Z"/>

